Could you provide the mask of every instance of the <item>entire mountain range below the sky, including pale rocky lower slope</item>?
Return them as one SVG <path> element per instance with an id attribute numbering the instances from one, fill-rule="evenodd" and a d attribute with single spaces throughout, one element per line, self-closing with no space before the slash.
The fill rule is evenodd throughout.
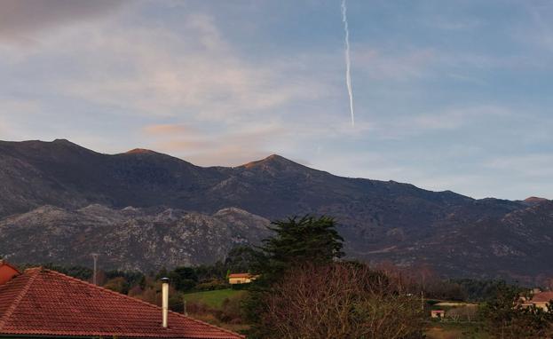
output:
<path id="1" fill-rule="evenodd" d="M 553 201 L 476 200 L 394 181 L 338 177 L 279 155 L 199 167 L 65 139 L 0 142 L 0 256 L 14 263 L 152 270 L 223 259 L 269 220 L 336 217 L 347 256 L 429 265 L 448 277 L 553 276 Z"/>

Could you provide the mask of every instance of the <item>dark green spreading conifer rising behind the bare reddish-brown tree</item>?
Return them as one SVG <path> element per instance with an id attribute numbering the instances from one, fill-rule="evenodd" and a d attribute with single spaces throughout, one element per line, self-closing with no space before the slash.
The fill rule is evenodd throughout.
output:
<path id="1" fill-rule="evenodd" d="M 265 281 L 277 280 L 282 272 L 297 265 L 328 264 L 344 256 L 344 239 L 332 217 L 289 217 L 271 225 L 274 235 L 263 240 L 257 255 L 257 271 Z"/>

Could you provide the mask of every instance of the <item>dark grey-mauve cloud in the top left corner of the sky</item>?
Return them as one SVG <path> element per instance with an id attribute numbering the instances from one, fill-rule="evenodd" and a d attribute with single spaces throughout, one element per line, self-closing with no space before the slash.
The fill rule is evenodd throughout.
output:
<path id="1" fill-rule="evenodd" d="M 93 20 L 113 12 L 122 0 L 1 0 L 0 39 L 28 39 L 45 30 Z"/>

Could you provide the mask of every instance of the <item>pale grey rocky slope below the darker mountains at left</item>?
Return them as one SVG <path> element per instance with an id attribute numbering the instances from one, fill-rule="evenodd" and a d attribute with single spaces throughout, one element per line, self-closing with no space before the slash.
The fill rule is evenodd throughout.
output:
<path id="1" fill-rule="evenodd" d="M 224 260 L 237 245 L 258 243 L 269 221 L 241 209 L 213 215 L 181 209 L 109 209 L 91 205 L 67 210 L 43 206 L 0 222 L 2 254 L 14 263 L 159 270 Z"/>

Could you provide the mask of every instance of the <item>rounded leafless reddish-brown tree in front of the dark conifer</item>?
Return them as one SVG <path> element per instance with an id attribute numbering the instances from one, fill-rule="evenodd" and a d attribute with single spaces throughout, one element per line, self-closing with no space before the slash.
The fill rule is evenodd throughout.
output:
<path id="1" fill-rule="evenodd" d="M 423 311 L 398 280 L 363 264 L 301 264 L 262 299 L 259 338 L 420 338 Z"/>

